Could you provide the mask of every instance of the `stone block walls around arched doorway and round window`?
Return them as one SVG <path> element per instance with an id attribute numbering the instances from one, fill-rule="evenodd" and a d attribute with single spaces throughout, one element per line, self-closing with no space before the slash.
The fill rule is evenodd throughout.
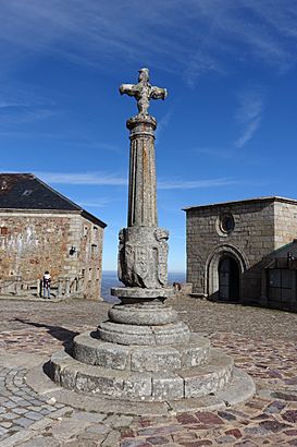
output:
<path id="1" fill-rule="evenodd" d="M 219 264 L 230 256 L 239 273 L 239 301 L 261 301 L 265 258 L 297 237 L 297 201 L 260 197 L 185 208 L 187 216 L 187 281 L 200 297 L 216 299 Z M 222 228 L 225 217 L 234 228 Z"/>

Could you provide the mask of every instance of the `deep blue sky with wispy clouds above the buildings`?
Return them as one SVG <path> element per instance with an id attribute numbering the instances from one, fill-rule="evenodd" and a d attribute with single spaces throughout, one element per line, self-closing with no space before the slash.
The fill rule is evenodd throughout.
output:
<path id="1" fill-rule="evenodd" d="M 126 225 L 121 97 L 150 69 L 159 225 L 185 268 L 190 205 L 297 198 L 293 0 L 0 0 L 0 170 L 33 172 L 108 224 L 103 268 Z"/>

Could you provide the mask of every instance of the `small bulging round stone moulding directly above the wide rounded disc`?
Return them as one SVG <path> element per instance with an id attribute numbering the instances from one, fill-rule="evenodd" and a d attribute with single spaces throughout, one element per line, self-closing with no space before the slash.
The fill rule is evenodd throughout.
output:
<path id="1" fill-rule="evenodd" d="M 177 313 L 162 302 L 141 304 L 115 304 L 109 310 L 109 318 L 114 323 L 131 325 L 166 325 L 177 321 Z"/>

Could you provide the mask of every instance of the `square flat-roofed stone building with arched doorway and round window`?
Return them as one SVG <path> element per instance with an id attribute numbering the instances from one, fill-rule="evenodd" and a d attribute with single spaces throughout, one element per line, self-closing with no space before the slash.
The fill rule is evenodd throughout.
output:
<path id="1" fill-rule="evenodd" d="M 297 201 L 259 197 L 190 206 L 184 210 L 187 282 L 193 283 L 194 294 L 297 310 L 294 282 L 297 265 L 292 255 L 293 252 L 297 255 Z M 281 261 L 279 264 L 275 261 L 280 256 L 282 269 L 290 271 L 273 276 L 272 270 L 280 267 Z M 284 257 L 290 263 L 286 264 Z M 281 276 L 283 281 L 280 279 L 272 290 L 270 282 Z M 290 278 L 290 290 L 281 291 L 287 278 Z"/>

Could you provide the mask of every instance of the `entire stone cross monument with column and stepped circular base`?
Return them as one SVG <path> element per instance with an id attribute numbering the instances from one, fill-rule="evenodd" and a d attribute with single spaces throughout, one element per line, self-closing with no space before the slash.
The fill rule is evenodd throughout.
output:
<path id="1" fill-rule="evenodd" d="M 97 330 L 76 336 L 70 353 L 51 358 L 51 377 L 65 388 L 124 401 L 165 402 L 168 409 L 221 408 L 250 397 L 252 380 L 233 359 L 190 333 L 164 304 L 168 285 L 168 230 L 158 227 L 154 130 L 151 99 L 166 90 L 151 86 L 148 69 L 138 83 L 123 84 L 138 113 L 127 120 L 129 182 L 127 227 L 120 231 L 119 278 L 113 288 L 120 304 Z M 207 399 L 207 400 L 206 400 Z"/>

